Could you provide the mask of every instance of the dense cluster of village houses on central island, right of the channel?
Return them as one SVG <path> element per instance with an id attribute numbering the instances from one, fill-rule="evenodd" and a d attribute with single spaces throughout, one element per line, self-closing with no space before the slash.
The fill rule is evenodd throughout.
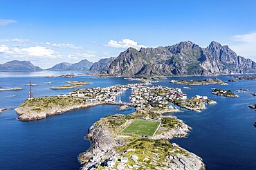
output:
<path id="1" fill-rule="evenodd" d="M 187 99 L 181 88 L 169 88 L 165 86 L 137 87 L 131 93 L 130 102 L 137 106 L 167 106 L 176 99 Z"/>

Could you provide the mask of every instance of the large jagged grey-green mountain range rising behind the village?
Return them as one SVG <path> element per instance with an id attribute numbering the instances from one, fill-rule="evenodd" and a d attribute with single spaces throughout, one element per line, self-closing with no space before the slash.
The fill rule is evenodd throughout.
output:
<path id="1" fill-rule="evenodd" d="M 191 41 L 157 48 L 128 48 L 110 64 L 98 66 L 98 71 L 108 75 L 158 77 L 182 75 L 221 75 L 256 73 L 251 59 L 237 56 L 228 46 L 212 41 L 201 48 Z M 100 64 L 100 62 L 99 62 Z M 95 69 L 96 70 L 96 69 Z"/>

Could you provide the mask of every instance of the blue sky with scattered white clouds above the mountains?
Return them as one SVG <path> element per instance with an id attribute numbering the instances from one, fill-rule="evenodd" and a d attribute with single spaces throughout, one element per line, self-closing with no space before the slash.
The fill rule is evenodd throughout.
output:
<path id="1" fill-rule="evenodd" d="M 0 0 L 0 64 L 115 57 L 132 46 L 227 44 L 256 61 L 256 1 Z"/>

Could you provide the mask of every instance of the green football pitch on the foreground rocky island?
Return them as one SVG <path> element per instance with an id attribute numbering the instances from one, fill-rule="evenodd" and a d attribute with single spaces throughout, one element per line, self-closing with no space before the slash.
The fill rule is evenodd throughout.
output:
<path id="1" fill-rule="evenodd" d="M 134 120 L 122 133 L 136 135 L 153 135 L 161 122 L 156 120 Z"/>

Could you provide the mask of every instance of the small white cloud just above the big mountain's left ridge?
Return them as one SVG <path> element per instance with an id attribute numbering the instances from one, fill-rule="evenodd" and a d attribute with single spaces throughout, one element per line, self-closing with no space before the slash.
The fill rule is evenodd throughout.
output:
<path id="1" fill-rule="evenodd" d="M 140 48 L 146 48 L 146 46 L 139 45 L 138 42 L 131 39 L 122 39 L 122 41 L 110 40 L 106 46 L 111 46 L 113 48 L 129 48 L 133 47 L 139 50 Z"/>

